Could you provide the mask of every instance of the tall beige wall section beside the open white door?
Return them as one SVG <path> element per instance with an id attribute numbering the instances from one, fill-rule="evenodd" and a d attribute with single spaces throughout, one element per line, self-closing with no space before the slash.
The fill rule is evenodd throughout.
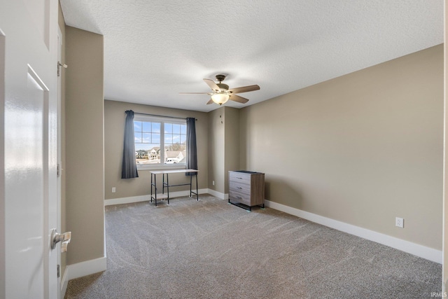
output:
<path id="1" fill-rule="evenodd" d="M 104 256 L 103 36 L 73 27 L 66 41 L 66 263 Z"/>

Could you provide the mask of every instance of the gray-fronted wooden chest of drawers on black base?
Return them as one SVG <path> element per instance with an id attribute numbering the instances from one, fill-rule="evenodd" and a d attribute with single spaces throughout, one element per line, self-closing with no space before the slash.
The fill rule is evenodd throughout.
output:
<path id="1" fill-rule="evenodd" d="M 229 172 L 229 202 L 265 207 L 265 174 L 236 170 Z M 240 205 L 239 205 L 240 206 Z"/>

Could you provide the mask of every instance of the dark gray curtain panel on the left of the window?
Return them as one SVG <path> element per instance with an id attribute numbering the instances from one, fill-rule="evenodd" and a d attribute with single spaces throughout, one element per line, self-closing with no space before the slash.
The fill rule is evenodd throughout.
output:
<path id="1" fill-rule="evenodd" d="M 135 162 L 134 143 L 134 111 L 126 111 L 125 120 L 125 144 L 123 146 L 123 164 L 121 166 L 121 178 L 138 178 L 137 162 Z"/>

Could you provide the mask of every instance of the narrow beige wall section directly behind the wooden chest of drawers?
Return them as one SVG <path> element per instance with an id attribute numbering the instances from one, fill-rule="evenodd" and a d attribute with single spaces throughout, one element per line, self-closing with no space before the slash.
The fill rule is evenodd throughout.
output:
<path id="1" fill-rule="evenodd" d="M 225 107 L 224 109 L 225 124 L 225 193 L 229 193 L 229 170 L 239 169 L 239 109 Z"/>

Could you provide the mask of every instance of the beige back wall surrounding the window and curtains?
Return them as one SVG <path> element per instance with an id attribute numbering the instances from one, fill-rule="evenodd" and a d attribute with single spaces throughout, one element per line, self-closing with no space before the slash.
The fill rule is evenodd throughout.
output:
<path id="1" fill-rule="evenodd" d="M 197 176 L 198 188 L 207 188 L 207 162 L 209 154 L 207 148 L 207 113 L 106 100 L 104 101 L 104 192 L 106 200 L 148 195 L 151 191 L 151 174 L 149 170 L 139 170 L 139 177 L 135 179 L 121 179 L 126 110 L 132 110 L 134 113 L 150 113 L 179 118 L 196 118 L 197 166 L 200 171 Z M 189 179 L 185 174 L 172 174 L 169 176 L 169 181 L 172 184 L 178 184 L 187 183 L 189 182 Z M 112 193 L 112 187 L 116 188 L 116 193 Z M 170 190 L 175 192 L 188 190 L 188 188 L 188 186 L 179 186 L 170 188 Z"/>

